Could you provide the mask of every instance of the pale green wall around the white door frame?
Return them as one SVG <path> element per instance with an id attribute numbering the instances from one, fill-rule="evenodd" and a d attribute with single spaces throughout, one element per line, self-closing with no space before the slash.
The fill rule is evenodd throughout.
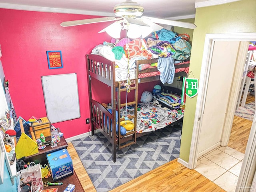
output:
<path id="1" fill-rule="evenodd" d="M 200 78 L 205 35 L 210 33 L 247 33 L 256 32 L 256 0 L 242 0 L 228 4 L 196 8 L 196 28 L 190 57 L 190 71 Z M 228 50 L 227 50 L 228 53 Z M 200 80 L 199 80 L 200 81 Z M 189 159 L 192 130 L 196 111 L 196 100 L 186 98 L 180 158 Z"/>

